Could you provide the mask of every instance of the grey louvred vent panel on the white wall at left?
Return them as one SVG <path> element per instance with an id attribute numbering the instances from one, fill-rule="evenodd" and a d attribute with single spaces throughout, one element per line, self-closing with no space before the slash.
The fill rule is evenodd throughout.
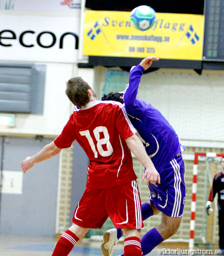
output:
<path id="1" fill-rule="evenodd" d="M 43 114 L 45 73 L 45 65 L 1 63 L 0 112 Z"/>

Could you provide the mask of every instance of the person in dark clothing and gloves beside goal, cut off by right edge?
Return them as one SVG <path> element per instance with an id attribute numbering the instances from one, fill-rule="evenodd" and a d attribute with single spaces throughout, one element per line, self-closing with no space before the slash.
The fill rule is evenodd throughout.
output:
<path id="1" fill-rule="evenodd" d="M 206 203 L 206 212 L 212 210 L 211 203 L 216 193 L 218 194 L 218 210 L 219 210 L 219 248 L 220 254 L 224 255 L 224 157 L 221 158 L 221 172 L 214 176 L 212 188 Z"/>

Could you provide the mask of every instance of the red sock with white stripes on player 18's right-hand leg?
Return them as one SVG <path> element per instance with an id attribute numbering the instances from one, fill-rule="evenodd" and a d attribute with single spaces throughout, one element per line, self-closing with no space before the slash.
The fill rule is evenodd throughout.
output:
<path id="1" fill-rule="evenodd" d="M 128 237 L 124 243 L 124 256 L 142 256 L 141 241 L 138 237 Z"/>

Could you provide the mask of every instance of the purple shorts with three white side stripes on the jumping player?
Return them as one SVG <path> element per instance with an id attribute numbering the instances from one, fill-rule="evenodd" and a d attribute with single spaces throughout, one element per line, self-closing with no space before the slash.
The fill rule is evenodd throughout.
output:
<path id="1" fill-rule="evenodd" d="M 185 204 L 184 162 L 178 155 L 161 171 L 161 183 L 151 184 L 150 202 L 169 217 L 181 217 Z"/>

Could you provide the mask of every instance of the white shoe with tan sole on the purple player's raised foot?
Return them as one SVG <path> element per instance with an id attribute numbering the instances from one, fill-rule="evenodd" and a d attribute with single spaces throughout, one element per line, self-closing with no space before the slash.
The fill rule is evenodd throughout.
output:
<path id="1" fill-rule="evenodd" d="M 109 229 L 103 234 L 103 242 L 101 244 L 104 256 L 112 256 L 115 246 L 118 244 L 117 229 Z"/>

